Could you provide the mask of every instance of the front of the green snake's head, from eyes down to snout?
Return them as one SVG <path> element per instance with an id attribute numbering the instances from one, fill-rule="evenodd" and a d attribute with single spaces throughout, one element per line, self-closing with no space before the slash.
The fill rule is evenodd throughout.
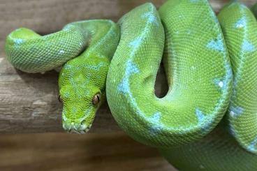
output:
<path id="1" fill-rule="evenodd" d="M 98 107 L 103 101 L 96 87 L 70 87 L 60 89 L 59 101 L 64 105 L 62 125 L 68 133 L 87 133 L 91 128 Z"/>

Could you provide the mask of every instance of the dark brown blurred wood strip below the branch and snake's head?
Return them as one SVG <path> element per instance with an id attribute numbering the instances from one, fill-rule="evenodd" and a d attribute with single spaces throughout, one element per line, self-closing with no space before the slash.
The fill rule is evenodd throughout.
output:
<path id="1" fill-rule="evenodd" d="M 123 133 L 0 136 L 0 170 L 175 171 L 156 149 Z"/>

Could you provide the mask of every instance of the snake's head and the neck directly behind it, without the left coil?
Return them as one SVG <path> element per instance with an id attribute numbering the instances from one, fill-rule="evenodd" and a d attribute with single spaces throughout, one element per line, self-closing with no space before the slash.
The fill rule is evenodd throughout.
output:
<path id="1" fill-rule="evenodd" d="M 105 101 L 106 75 L 119 43 L 119 27 L 110 20 L 74 22 L 89 32 L 87 50 L 69 60 L 59 73 L 59 94 L 64 103 L 63 128 L 73 133 L 89 131 L 96 111 Z M 98 96 L 99 103 L 92 103 Z"/>

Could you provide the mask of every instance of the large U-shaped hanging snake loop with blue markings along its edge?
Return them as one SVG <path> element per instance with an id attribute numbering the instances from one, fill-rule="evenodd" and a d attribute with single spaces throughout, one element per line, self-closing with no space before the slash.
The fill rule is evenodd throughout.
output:
<path id="1" fill-rule="evenodd" d="M 170 147 L 198 140 L 219 123 L 228 107 L 232 70 L 221 27 L 206 1 L 168 1 L 159 12 L 166 30 L 168 94 L 154 94 L 164 31 L 151 3 L 119 20 L 121 40 L 106 92 L 112 115 L 126 133 L 152 147 Z M 140 27 L 131 31 L 130 26 Z"/>

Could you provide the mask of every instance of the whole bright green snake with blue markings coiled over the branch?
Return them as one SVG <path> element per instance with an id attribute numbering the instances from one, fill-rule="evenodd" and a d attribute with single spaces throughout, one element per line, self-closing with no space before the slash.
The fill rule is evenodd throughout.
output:
<path id="1" fill-rule="evenodd" d="M 17 29 L 6 56 L 27 73 L 62 66 L 68 132 L 87 132 L 107 97 L 117 124 L 179 170 L 257 170 L 256 35 L 254 14 L 237 1 L 216 17 L 207 0 L 170 0 L 117 24 L 73 22 L 47 36 Z M 161 61 L 163 98 L 154 92 Z"/>

